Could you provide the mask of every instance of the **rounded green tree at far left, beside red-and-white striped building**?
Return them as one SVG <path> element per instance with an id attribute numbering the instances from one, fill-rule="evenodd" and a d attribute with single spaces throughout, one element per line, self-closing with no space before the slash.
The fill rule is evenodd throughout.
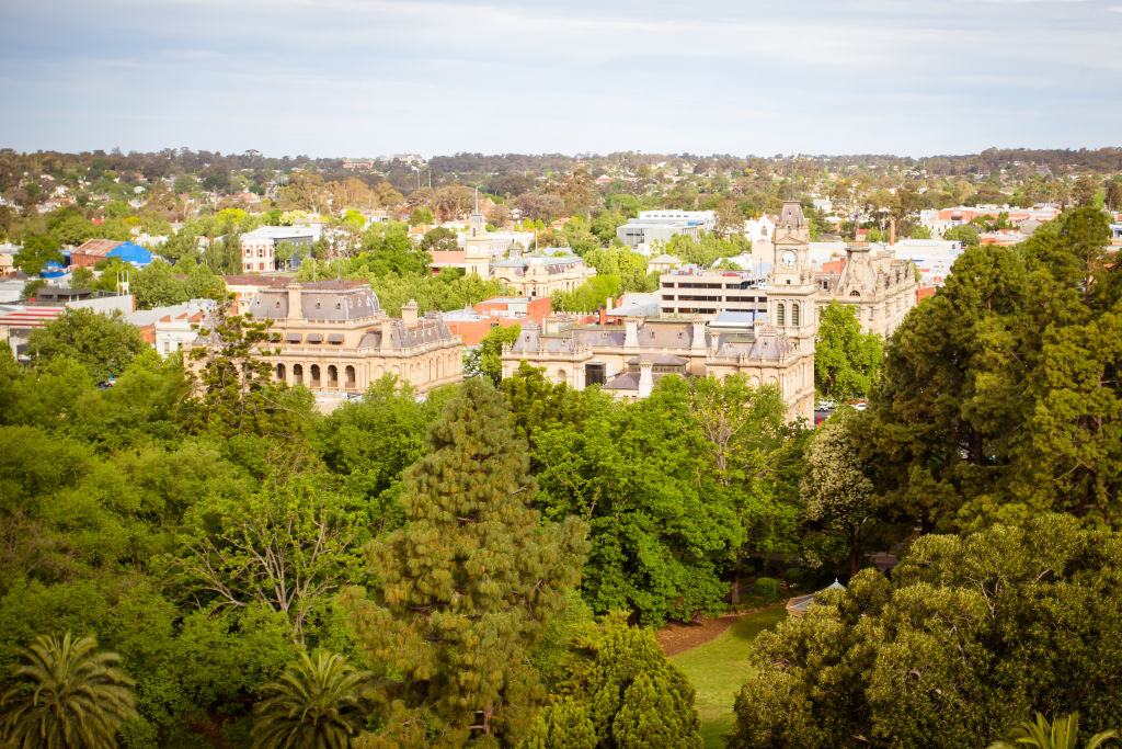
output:
<path id="1" fill-rule="evenodd" d="M 125 372 L 145 347 L 140 330 L 116 310 L 112 314 L 101 314 L 89 309 L 67 309 L 27 337 L 27 353 L 33 360 L 47 364 L 65 357 L 81 364 L 98 380 Z"/>

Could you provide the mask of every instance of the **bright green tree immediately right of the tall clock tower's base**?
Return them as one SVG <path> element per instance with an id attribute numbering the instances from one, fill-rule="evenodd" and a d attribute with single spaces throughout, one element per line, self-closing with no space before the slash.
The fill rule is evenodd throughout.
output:
<path id="1" fill-rule="evenodd" d="M 864 400 L 881 376 L 884 339 L 864 332 L 857 311 L 830 302 L 822 311 L 815 338 L 815 386 L 824 398 Z"/>

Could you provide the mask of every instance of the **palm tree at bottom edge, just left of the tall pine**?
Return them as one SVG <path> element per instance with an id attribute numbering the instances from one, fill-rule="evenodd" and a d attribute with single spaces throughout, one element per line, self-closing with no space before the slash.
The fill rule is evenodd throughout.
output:
<path id="1" fill-rule="evenodd" d="M 300 654 L 279 682 L 261 687 L 254 707 L 254 749 L 301 747 L 347 749 L 366 725 L 373 675 L 355 670 L 342 656 Z"/>

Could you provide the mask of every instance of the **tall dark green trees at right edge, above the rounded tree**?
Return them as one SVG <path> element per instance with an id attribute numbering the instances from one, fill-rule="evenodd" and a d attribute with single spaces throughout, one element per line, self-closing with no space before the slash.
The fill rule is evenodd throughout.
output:
<path id="1" fill-rule="evenodd" d="M 1102 213 L 1068 211 L 1017 248 L 965 252 L 908 316 L 856 424 L 889 519 L 1122 519 L 1122 273 L 1106 241 Z"/>

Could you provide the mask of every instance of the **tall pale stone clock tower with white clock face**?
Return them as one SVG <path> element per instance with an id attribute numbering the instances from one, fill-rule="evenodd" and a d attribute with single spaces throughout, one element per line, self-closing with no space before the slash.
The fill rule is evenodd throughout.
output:
<path id="1" fill-rule="evenodd" d="M 767 322 L 800 349 L 813 350 L 815 270 L 810 226 L 797 200 L 783 202 L 774 235 L 775 257 L 767 289 Z"/>

